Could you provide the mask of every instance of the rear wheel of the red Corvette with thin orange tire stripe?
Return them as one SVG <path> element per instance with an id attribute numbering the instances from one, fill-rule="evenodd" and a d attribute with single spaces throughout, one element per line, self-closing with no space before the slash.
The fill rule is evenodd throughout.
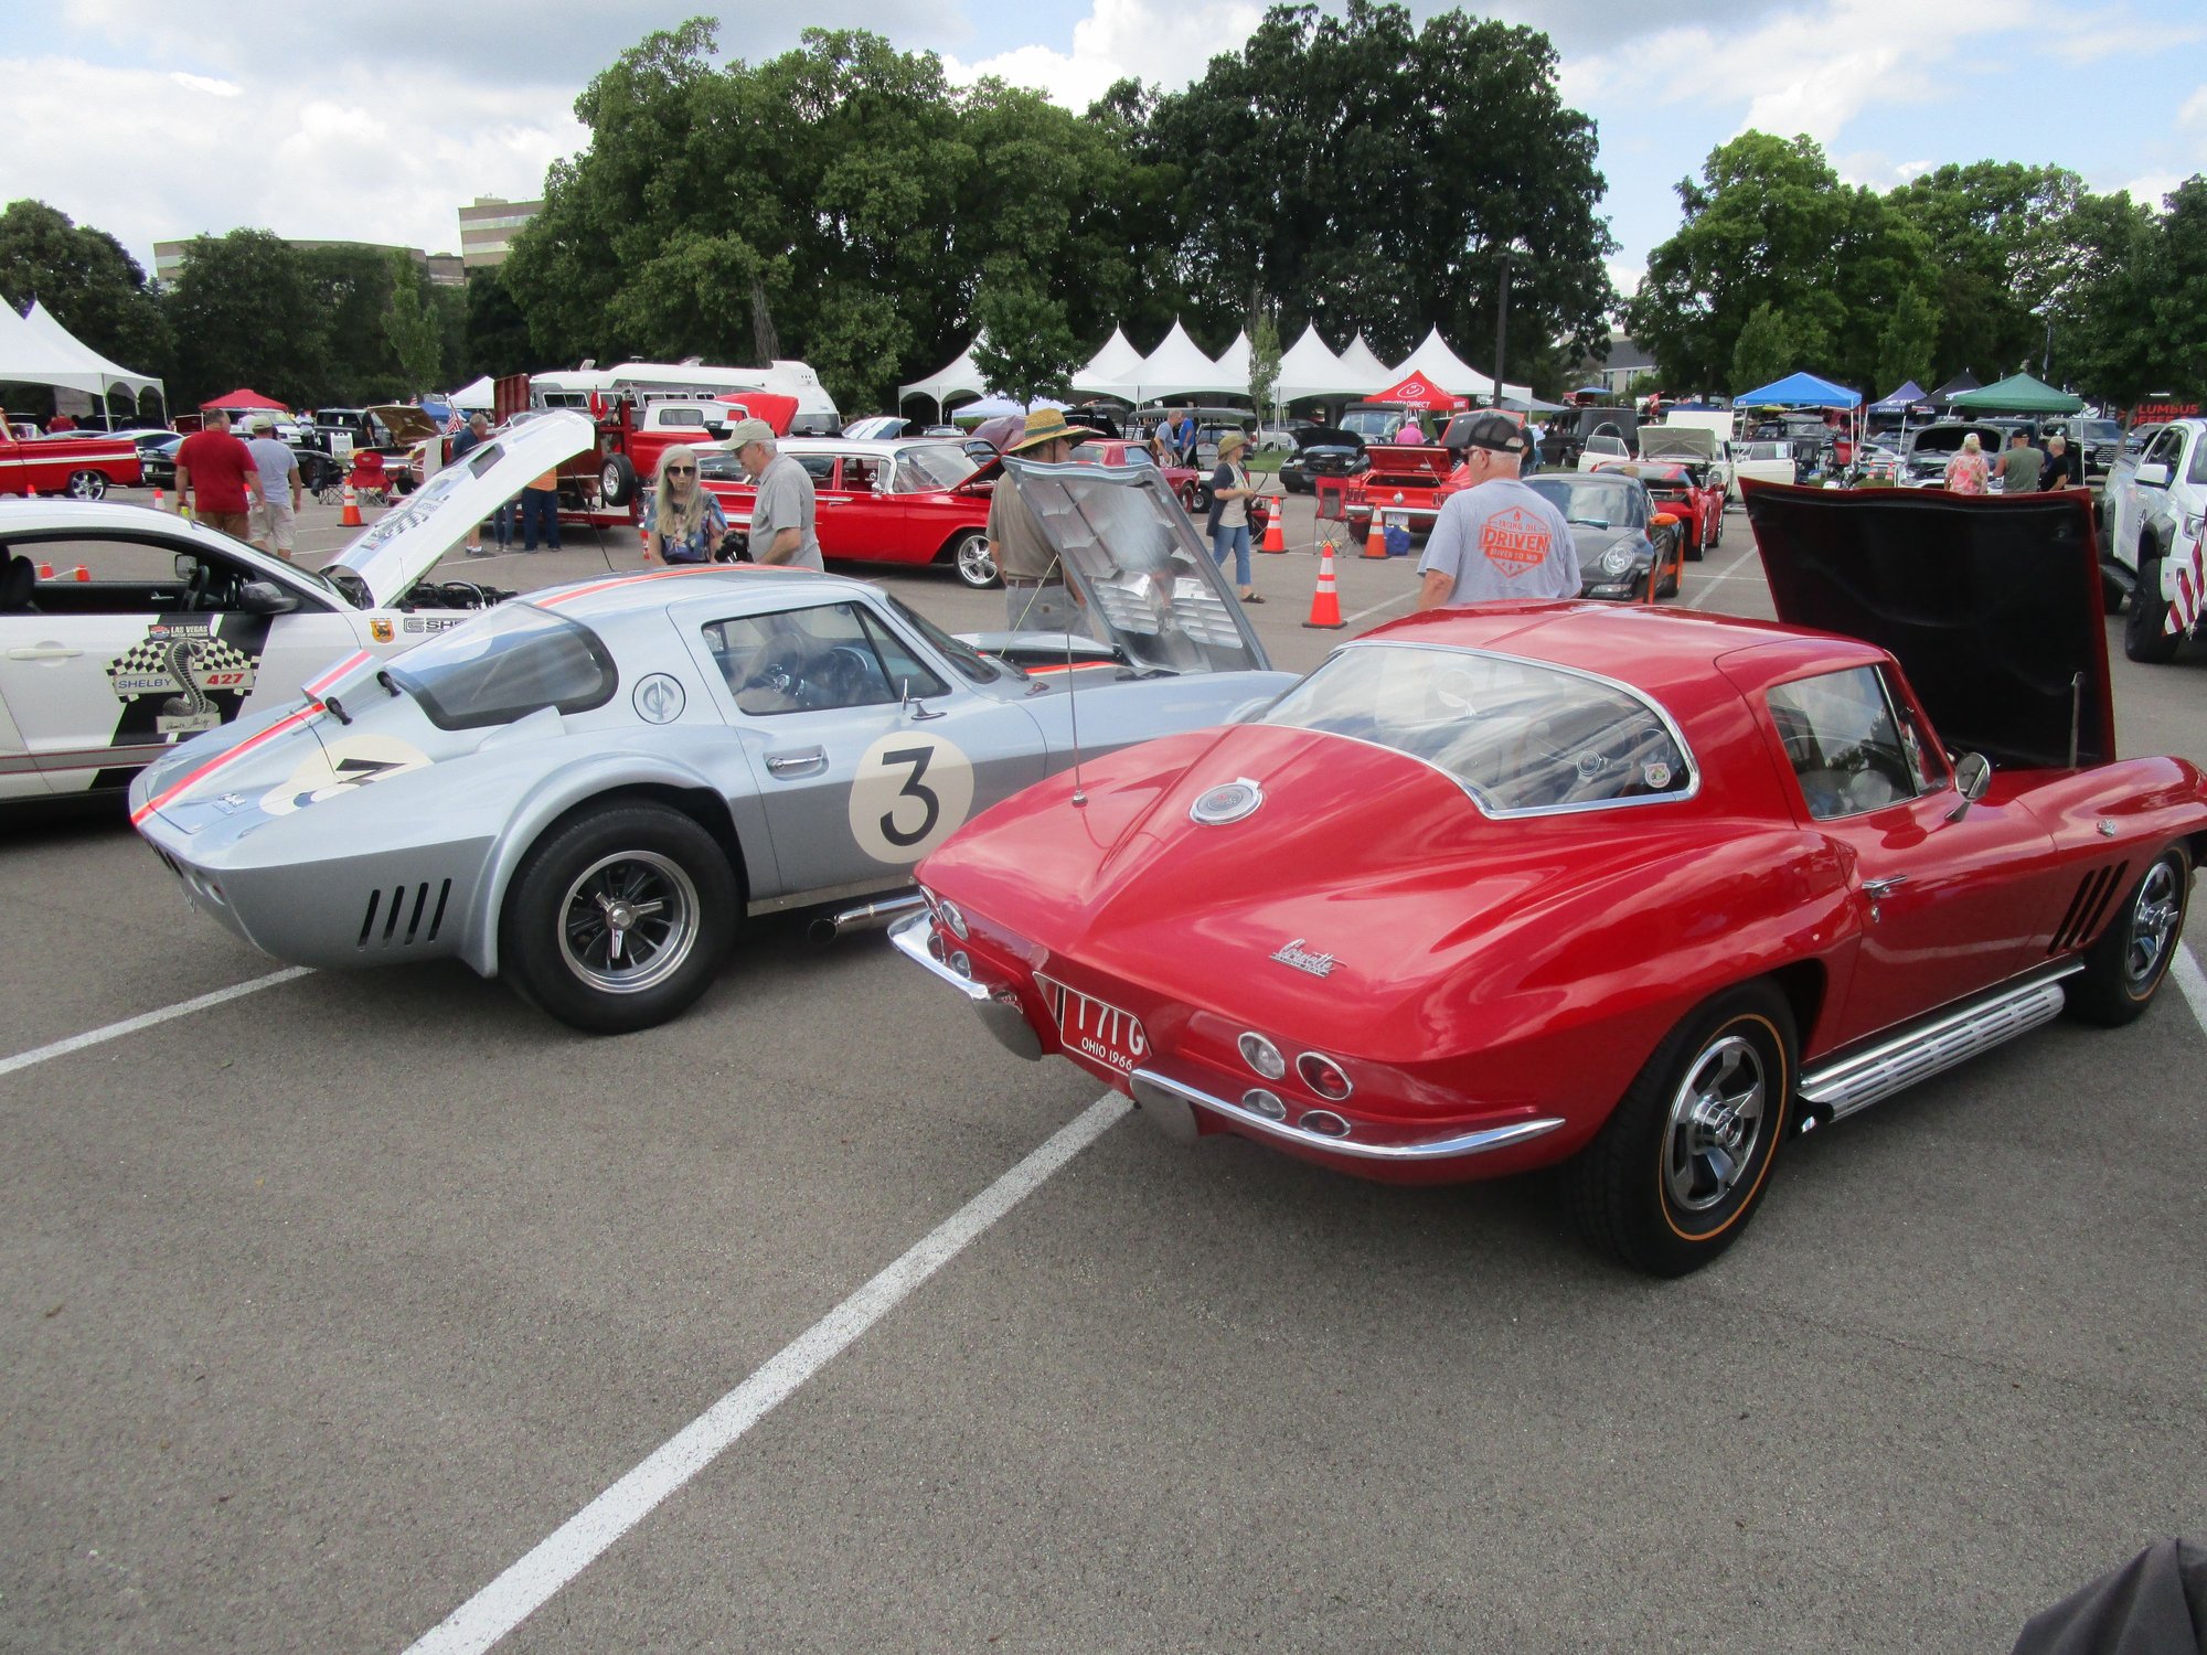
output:
<path id="1" fill-rule="evenodd" d="M 1770 984 L 1728 989 L 1686 1017 L 1567 1167 L 1587 1238 L 1649 1275 L 1724 1253 L 1770 1185 L 1792 1081 L 1792 1011 Z"/>

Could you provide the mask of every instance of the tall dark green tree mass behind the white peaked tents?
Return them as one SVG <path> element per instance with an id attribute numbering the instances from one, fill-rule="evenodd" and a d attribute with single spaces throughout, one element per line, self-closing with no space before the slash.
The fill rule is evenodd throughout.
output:
<path id="1" fill-rule="evenodd" d="M 1276 4 L 1240 53 L 1156 99 L 1137 143 L 1183 174 L 1161 263 L 1198 335 L 1232 335 L 1254 291 L 1284 333 L 1315 320 L 1382 351 L 1430 327 L 1459 349 L 1492 338 L 1510 249 L 1512 333 L 1607 338 L 1616 243 L 1593 154 L 1545 35 L 1463 11 L 1419 26 L 1375 0 Z"/>

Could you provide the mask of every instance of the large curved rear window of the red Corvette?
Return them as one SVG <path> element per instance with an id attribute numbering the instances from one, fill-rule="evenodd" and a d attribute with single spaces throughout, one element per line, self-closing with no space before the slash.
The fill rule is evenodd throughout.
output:
<path id="1" fill-rule="evenodd" d="M 1510 655 L 1351 644 L 1260 722 L 1406 752 L 1446 770 L 1494 816 L 1693 790 L 1693 761 L 1653 704 L 1622 684 Z"/>

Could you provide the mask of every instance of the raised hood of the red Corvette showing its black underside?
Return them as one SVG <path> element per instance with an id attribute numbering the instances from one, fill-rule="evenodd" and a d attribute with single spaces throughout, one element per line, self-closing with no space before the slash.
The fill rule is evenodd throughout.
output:
<path id="1" fill-rule="evenodd" d="M 1958 752 L 2114 759 L 2092 505 L 1746 481 L 1779 620 L 1891 651 Z"/>

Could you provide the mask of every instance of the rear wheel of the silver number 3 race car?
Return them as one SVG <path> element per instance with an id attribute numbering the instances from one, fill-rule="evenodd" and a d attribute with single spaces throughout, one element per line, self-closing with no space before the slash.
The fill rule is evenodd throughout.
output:
<path id="1" fill-rule="evenodd" d="M 620 920 L 629 903 L 660 907 Z M 667 805 L 609 803 L 554 828 L 521 863 L 499 918 L 499 971 L 563 1024 L 627 1035 L 706 991 L 739 911 L 713 834 Z M 640 947 L 651 949 L 642 960 Z"/>

